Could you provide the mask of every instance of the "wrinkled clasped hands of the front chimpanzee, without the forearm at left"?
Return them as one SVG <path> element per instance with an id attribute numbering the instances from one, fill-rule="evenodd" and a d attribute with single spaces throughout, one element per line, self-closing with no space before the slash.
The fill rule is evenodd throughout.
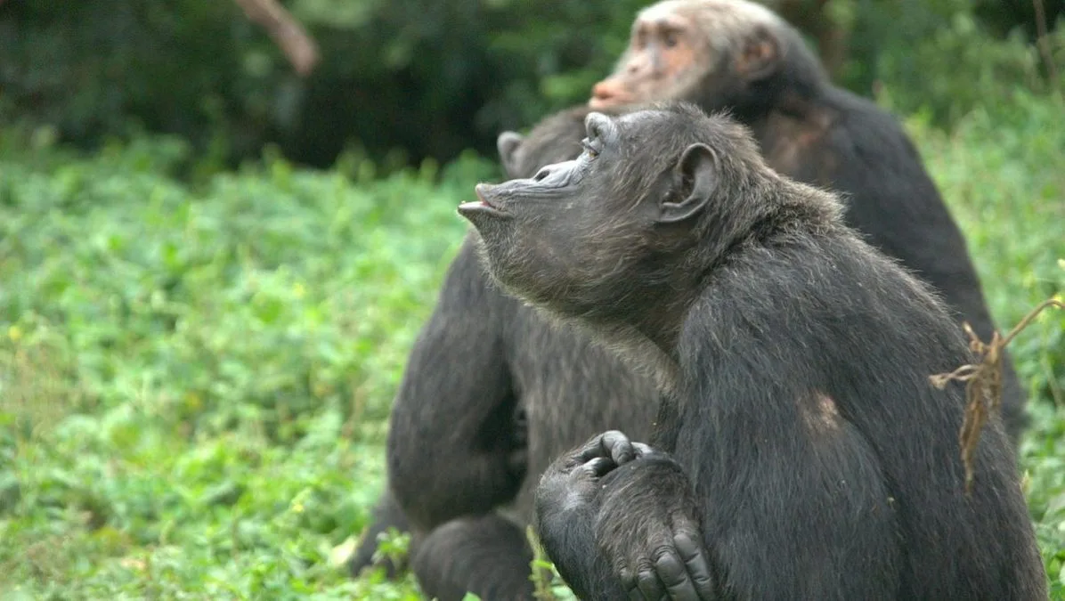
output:
<path id="1" fill-rule="evenodd" d="M 716 598 L 698 506 L 672 457 L 611 431 L 556 466 L 541 482 L 541 506 L 588 514 L 599 551 L 629 599 Z"/>

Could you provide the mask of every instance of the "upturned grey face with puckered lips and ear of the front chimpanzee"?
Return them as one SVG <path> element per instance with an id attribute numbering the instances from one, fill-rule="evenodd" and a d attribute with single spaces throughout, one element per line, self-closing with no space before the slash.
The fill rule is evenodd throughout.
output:
<path id="1" fill-rule="evenodd" d="M 687 104 L 591 113 L 576 159 L 480 183 L 478 200 L 458 210 L 480 233 L 496 281 L 535 304 L 588 314 L 651 286 L 690 246 L 720 192 L 720 161 L 704 141 L 721 128 L 736 133 Z"/>

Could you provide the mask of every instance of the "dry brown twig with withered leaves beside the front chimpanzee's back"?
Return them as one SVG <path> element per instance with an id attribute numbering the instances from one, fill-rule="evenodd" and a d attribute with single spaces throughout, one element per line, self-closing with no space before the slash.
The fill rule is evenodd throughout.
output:
<path id="1" fill-rule="evenodd" d="M 950 373 L 929 376 L 932 386 L 939 389 L 946 388 L 950 381 L 966 383 L 965 420 L 962 422 L 962 431 L 958 433 L 962 462 L 965 465 L 966 492 L 972 490 L 972 454 L 980 441 L 980 433 L 987 421 L 989 410 L 998 410 L 1002 405 L 1002 350 L 1047 307 L 1065 309 L 1065 303 L 1054 298 L 1044 300 L 1025 315 L 1025 319 L 1020 320 L 1020 323 L 1014 326 L 1005 338 L 996 331 L 992 335 L 990 342 L 987 343 L 980 340 L 968 323 L 963 324 L 965 334 L 969 336 L 969 348 L 977 355 L 979 361 L 962 366 Z"/>

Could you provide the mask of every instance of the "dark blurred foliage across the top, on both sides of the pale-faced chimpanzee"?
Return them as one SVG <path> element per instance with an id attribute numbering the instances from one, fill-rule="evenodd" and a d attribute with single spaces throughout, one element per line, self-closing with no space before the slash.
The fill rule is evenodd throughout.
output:
<path id="1" fill-rule="evenodd" d="M 84 146 L 177 133 L 219 165 L 269 142 L 317 166 L 345 148 L 386 169 L 464 148 L 493 155 L 501 130 L 585 101 L 648 3 L 290 0 L 323 53 L 300 80 L 228 0 L 5 0 L 0 127 L 50 125 Z M 950 124 L 983 98 L 1047 88 L 1027 0 L 830 0 L 813 17 L 819 0 L 767 3 L 849 31 L 840 82 L 886 88 L 903 113 L 928 107 Z M 1065 0 L 1045 3 L 1052 27 Z"/>

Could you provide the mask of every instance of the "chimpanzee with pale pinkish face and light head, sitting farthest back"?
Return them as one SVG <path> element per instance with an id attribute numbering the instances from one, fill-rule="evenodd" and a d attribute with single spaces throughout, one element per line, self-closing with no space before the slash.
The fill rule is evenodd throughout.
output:
<path id="1" fill-rule="evenodd" d="M 589 105 L 655 100 L 730 111 L 754 132 L 769 166 L 842 193 L 849 225 L 990 339 L 995 326 L 965 240 L 899 123 L 832 85 L 799 32 L 770 10 L 746 0 L 666 0 L 640 12 Z M 1010 358 L 1002 364 L 1002 411 L 1016 443 L 1028 422 L 1026 394 Z"/>

